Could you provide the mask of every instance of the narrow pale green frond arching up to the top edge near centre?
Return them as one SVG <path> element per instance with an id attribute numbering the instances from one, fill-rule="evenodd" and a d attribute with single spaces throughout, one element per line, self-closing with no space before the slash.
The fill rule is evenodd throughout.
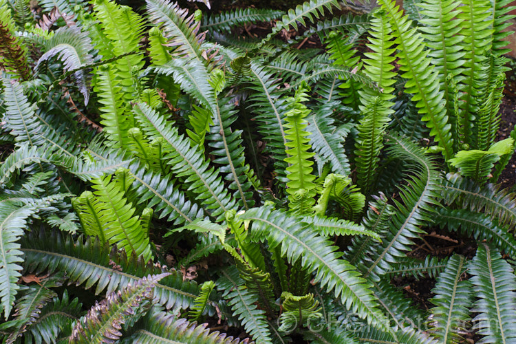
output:
<path id="1" fill-rule="evenodd" d="M 266 38 L 261 40 L 261 45 L 264 45 L 270 39 L 272 39 L 275 34 L 280 32 L 283 29 L 288 30 L 290 26 L 292 26 L 295 30 L 297 30 L 297 25 L 300 23 L 303 26 L 306 25 L 306 19 L 314 22 L 314 18 L 319 19 L 319 14 L 324 14 L 324 9 L 326 8 L 328 11 L 332 11 L 332 6 L 338 8 L 338 1 L 336 0 L 310 0 L 305 1 L 302 5 L 298 5 L 295 9 L 288 10 L 288 14 L 283 15 L 281 17 L 281 21 L 276 23 L 275 28 L 272 29 L 272 32 L 266 36 Z"/>

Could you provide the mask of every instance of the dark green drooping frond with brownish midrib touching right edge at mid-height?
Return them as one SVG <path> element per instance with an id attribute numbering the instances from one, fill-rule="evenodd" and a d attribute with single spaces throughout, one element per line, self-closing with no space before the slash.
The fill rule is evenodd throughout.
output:
<path id="1" fill-rule="evenodd" d="M 441 196 L 445 204 L 483 213 L 497 219 L 499 226 L 516 224 L 514 194 L 499 190 L 499 186 L 487 183 L 482 186 L 462 178 L 458 173 L 448 173 L 442 178 Z"/>

